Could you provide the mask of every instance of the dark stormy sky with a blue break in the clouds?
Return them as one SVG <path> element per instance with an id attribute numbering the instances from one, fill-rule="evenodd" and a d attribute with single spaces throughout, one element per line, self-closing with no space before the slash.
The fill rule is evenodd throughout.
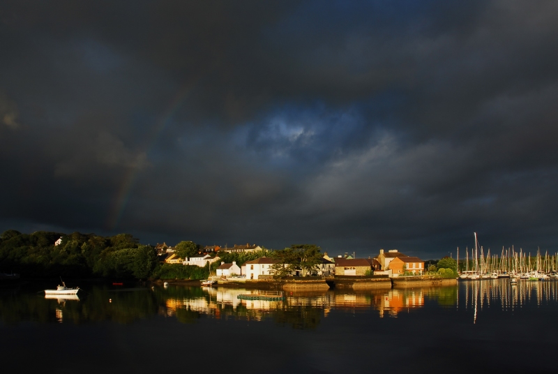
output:
<path id="1" fill-rule="evenodd" d="M 558 250 L 557 1 L 2 1 L 0 231 Z"/>

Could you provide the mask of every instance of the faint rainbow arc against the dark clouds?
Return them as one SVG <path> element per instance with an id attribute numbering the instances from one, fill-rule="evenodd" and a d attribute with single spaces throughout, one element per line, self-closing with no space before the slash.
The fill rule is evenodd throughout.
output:
<path id="1" fill-rule="evenodd" d="M 149 157 L 149 152 L 151 152 L 151 149 L 153 148 L 153 146 L 155 146 L 158 137 L 161 133 L 163 133 L 165 127 L 167 127 L 167 124 L 169 123 L 170 119 L 172 119 L 176 110 L 178 110 L 183 101 L 186 99 L 186 96 L 188 96 L 190 87 L 190 85 L 184 87 L 176 94 L 176 96 L 174 96 L 173 100 L 167 106 L 167 109 L 165 110 L 165 112 L 163 112 L 163 115 L 160 117 L 159 121 L 157 121 L 156 125 L 153 126 L 151 134 L 148 137 L 149 141 L 144 151 L 147 157 Z M 122 184 L 119 188 L 118 194 L 116 195 L 116 199 L 114 200 L 113 207 L 107 220 L 107 226 L 110 228 L 110 230 L 114 230 L 116 229 L 116 227 L 118 227 L 122 215 L 126 210 L 128 200 L 130 200 L 130 193 L 133 189 L 133 186 L 135 185 L 135 182 L 137 181 L 137 177 L 139 174 L 140 167 L 130 167 L 130 170 L 128 170 L 126 177 L 124 177 L 124 179 L 122 180 Z"/>

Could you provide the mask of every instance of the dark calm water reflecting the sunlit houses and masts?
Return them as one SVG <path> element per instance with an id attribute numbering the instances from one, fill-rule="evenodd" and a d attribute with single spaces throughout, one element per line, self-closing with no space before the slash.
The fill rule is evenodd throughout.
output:
<path id="1" fill-rule="evenodd" d="M 52 285 L 50 285 L 52 287 Z M 85 285 L 80 285 L 85 288 Z M 286 292 L 0 289 L 3 373 L 557 373 L 558 282 Z"/>

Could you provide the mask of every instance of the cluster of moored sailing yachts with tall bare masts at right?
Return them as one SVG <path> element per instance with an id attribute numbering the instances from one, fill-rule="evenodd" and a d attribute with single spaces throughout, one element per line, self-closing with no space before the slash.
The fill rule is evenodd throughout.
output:
<path id="1" fill-rule="evenodd" d="M 516 252 L 512 246 L 512 248 L 508 249 L 502 247 L 500 257 L 498 255 L 490 255 L 490 248 L 485 255 L 483 247 L 478 245 L 476 232 L 474 234 L 475 248 L 474 250 L 471 249 L 471 260 L 469 261 L 469 248 L 467 248 L 465 271 L 458 271 L 459 278 L 472 280 L 497 278 L 543 280 L 558 278 L 556 273 L 558 269 L 558 253 L 549 257 L 547 251 L 543 257 L 541 256 L 541 250 L 537 250 L 536 257 L 531 261 L 531 253 L 527 255 L 521 248 L 519 252 Z M 469 265 L 471 269 L 469 269 Z"/>

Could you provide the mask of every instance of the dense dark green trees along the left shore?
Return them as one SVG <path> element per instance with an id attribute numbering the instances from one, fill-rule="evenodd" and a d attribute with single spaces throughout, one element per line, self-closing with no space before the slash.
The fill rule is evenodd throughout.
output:
<path id="1" fill-rule="evenodd" d="M 61 238 L 61 243 L 55 242 Z M 25 277 L 149 278 L 158 266 L 156 251 L 130 234 L 101 237 L 7 230 L 0 236 L 0 271 Z"/>

